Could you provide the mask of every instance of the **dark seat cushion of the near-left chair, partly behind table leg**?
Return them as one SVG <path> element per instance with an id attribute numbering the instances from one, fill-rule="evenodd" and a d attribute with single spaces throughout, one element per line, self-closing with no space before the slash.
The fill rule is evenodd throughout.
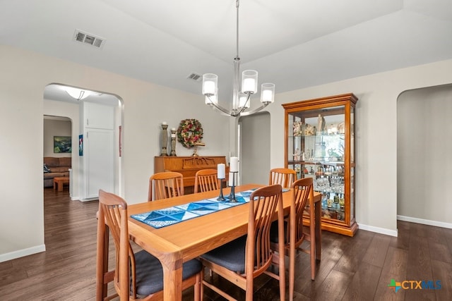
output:
<path id="1" fill-rule="evenodd" d="M 136 293 L 150 295 L 163 290 L 163 269 L 160 261 L 153 255 L 142 250 L 135 253 L 136 262 Z M 182 280 L 198 274 L 203 265 L 196 259 L 184 263 Z"/>

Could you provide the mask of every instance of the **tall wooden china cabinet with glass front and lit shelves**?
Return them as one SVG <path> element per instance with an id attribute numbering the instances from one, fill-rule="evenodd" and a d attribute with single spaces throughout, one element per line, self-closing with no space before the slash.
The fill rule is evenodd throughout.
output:
<path id="1" fill-rule="evenodd" d="M 285 167 L 314 179 L 321 192 L 322 229 L 355 235 L 354 94 L 283 104 Z M 309 225 L 309 219 L 304 223 Z"/>

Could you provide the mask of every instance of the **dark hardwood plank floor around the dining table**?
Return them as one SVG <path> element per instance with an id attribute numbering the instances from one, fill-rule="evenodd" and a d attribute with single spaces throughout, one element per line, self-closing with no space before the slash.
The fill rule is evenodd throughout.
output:
<path id="1" fill-rule="evenodd" d="M 47 251 L 0 263 L 0 300 L 95 300 L 96 211 L 96 201 L 71 201 L 67 188 L 44 189 Z M 315 281 L 309 278 L 309 256 L 297 257 L 295 300 L 451 300 L 452 229 L 398 221 L 398 238 L 363 230 L 354 238 L 322 235 Z M 388 287 L 391 279 L 441 281 L 441 288 L 395 293 Z M 234 285 L 214 281 L 244 299 Z M 255 290 L 255 300 L 279 300 L 273 278 L 258 278 Z M 184 292 L 184 300 L 192 296 Z M 222 298 L 206 288 L 204 300 Z"/>

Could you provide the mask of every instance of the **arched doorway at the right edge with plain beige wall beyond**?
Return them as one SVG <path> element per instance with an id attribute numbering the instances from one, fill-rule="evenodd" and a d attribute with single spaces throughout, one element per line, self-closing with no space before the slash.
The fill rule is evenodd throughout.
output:
<path id="1" fill-rule="evenodd" d="M 452 228 L 452 85 L 401 93 L 397 102 L 397 216 Z"/>

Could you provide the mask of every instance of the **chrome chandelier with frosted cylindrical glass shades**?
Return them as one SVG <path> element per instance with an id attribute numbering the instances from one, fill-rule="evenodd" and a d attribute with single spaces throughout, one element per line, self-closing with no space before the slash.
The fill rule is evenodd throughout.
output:
<path id="1" fill-rule="evenodd" d="M 203 94 L 206 104 L 213 106 L 227 116 L 246 116 L 261 111 L 275 101 L 275 85 L 263 83 L 261 85 L 261 106 L 250 108 L 250 97 L 257 92 L 257 71 L 244 70 L 242 73 L 242 90 L 239 90 L 240 58 L 239 58 L 239 0 L 235 1 L 237 9 L 237 54 L 234 58 L 234 74 L 232 78 L 232 109 L 228 110 L 218 104 L 218 76 L 213 73 L 203 75 Z"/>

